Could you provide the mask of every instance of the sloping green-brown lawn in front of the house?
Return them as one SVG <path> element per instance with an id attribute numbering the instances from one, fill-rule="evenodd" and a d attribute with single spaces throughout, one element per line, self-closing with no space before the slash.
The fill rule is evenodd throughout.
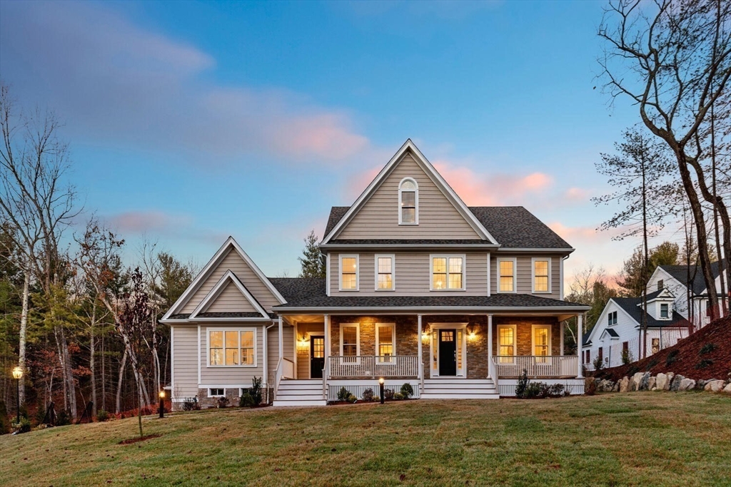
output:
<path id="1" fill-rule="evenodd" d="M 0 437 L 0 485 L 731 486 L 731 397 L 209 410 Z"/>

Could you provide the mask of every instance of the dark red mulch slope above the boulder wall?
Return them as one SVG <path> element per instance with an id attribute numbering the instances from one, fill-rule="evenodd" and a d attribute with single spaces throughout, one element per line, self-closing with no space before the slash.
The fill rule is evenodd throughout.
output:
<path id="1" fill-rule="evenodd" d="M 701 349 L 708 343 L 715 345 L 714 350 L 701 354 Z M 675 354 L 675 361 L 667 364 L 667 356 L 670 353 Z M 706 361 L 705 367 L 699 367 L 702 361 Z M 631 376 L 635 372 L 646 371 L 652 375 L 659 372 L 675 372 L 694 380 L 725 380 L 731 372 L 731 316 L 708 323 L 673 347 L 653 356 L 621 367 L 600 370 L 594 377 L 619 380 L 625 375 Z"/>

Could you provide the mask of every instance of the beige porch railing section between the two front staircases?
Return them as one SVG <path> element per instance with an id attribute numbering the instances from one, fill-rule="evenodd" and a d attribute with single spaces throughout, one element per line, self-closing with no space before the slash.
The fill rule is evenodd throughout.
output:
<path id="1" fill-rule="evenodd" d="M 330 356 L 325 372 L 327 377 L 419 377 L 417 356 Z"/>

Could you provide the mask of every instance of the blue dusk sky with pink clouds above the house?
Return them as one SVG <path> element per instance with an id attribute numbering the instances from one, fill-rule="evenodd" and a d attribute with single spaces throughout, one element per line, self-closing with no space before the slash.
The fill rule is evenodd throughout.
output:
<path id="1" fill-rule="evenodd" d="M 200 264 L 268 275 L 412 138 L 467 204 L 522 204 L 610 274 L 637 242 L 599 153 L 637 121 L 595 79 L 602 2 L 0 3 L 0 77 L 65 121 L 86 208 Z M 596 89 L 594 89 L 596 87 Z M 664 235 L 667 237 L 667 235 Z"/>

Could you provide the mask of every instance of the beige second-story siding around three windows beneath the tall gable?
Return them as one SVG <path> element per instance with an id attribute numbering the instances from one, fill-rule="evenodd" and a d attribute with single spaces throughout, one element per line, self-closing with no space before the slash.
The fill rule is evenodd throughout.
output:
<path id="1" fill-rule="evenodd" d="M 352 253 L 349 253 L 352 254 Z M 440 254 L 464 255 L 466 258 L 466 291 L 429 291 L 431 287 L 430 257 Z M 401 252 L 395 256 L 395 290 L 376 291 L 375 253 L 358 254 L 360 261 L 360 291 L 340 291 L 340 258 L 330 257 L 330 294 L 332 296 L 453 296 L 455 294 L 484 296 L 488 292 L 487 253 L 460 252 Z"/>

